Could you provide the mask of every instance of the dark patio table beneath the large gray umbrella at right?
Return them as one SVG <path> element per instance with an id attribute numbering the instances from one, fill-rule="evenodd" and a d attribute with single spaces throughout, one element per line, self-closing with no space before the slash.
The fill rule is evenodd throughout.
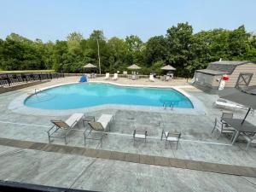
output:
<path id="1" fill-rule="evenodd" d="M 236 143 L 237 137 L 241 132 L 256 133 L 256 125 L 251 124 L 247 120 L 244 120 L 242 124 L 243 119 L 224 118 L 223 120 L 236 130 L 236 136 L 232 141 L 232 145 Z"/>

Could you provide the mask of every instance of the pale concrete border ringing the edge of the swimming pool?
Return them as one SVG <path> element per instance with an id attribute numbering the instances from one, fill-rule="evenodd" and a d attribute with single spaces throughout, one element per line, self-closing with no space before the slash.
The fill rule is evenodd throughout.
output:
<path id="1" fill-rule="evenodd" d="M 104 82 L 104 81 L 89 81 L 88 83 L 100 83 L 100 84 L 114 84 L 119 86 L 126 87 L 147 87 L 147 88 L 166 88 L 166 89 L 174 89 L 179 91 L 184 96 L 187 96 L 192 102 L 194 108 L 166 108 L 163 107 L 153 107 L 153 106 L 138 106 L 138 105 L 120 105 L 120 104 L 104 104 L 98 105 L 94 107 L 86 107 L 86 108 L 75 108 L 75 109 L 40 109 L 40 108 L 30 108 L 24 104 L 24 101 L 28 96 L 32 96 L 34 92 L 32 90 L 27 91 L 25 94 L 16 97 L 12 102 L 9 103 L 9 110 L 15 113 L 29 114 L 29 115 L 46 115 L 46 116 L 63 116 L 69 115 L 72 113 L 88 113 L 95 112 L 104 109 L 113 109 L 113 110 L 133 110 L 133 111 L 143 111 L 143 112 L 153 112 L 153 113 L 188 113 L 188 114 L 207 114 L 207 108 L 205 108 L 204 104 L 199 101 L 195 96 L 189 95 L 186 91 L 181 88 L 187 87 L 186 85 L 177 85 L 177 86 L 161 86 L 161 85 L 131 85 L 131 84 L 117 84 L 112 82 Z M 86 84 L 86 83 L 66 83 L 66 84 L 54 84 L 50 86 L 46 86 L 40 90 L 47 90 L 54 87 L 67 85 L 67 84 Z"/>

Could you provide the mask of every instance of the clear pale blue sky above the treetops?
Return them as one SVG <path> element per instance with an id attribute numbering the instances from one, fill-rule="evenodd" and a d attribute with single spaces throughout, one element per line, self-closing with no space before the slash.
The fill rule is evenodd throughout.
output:
<path id="1" fill-rule="evenodd" d="M 241 25 L 256 32 L 255 9 L 256 0 L 0 0 L 0 38 L 15 32 L 47 42 L 96 29 L 147 41 L 186 21 L 194 32 Z"/>

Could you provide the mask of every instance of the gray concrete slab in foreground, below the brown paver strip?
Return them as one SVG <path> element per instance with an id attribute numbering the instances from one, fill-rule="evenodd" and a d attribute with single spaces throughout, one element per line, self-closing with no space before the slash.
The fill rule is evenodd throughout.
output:
<path id="1" fill-rule="evenodd" d="M 98 191 L 256 191 L 255 178 L 1 147 L 0 179 Z M 4 166 L 3 166 L 4 165 Z"/>

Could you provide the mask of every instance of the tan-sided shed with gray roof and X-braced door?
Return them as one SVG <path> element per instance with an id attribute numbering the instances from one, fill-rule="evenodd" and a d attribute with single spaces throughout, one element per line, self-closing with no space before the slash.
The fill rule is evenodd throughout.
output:
<path id="1" fill-rule="evenodd" d="M 253 61 L 216 61 L 206 69 L 195 71 L 195 84 L 210 89 L 218 89 L 223 76 L 228 76 L 225 87 L 256 85 L 256 62 Z"/>

